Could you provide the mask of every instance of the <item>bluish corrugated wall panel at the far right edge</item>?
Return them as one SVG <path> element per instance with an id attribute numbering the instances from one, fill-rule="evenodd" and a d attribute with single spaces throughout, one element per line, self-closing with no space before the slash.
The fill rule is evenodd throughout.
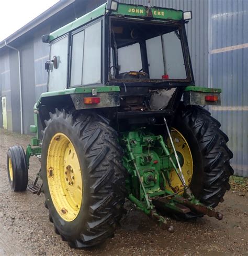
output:
<path id="1" fill-rule="evenodd" d="M 222 106 L 210 108 L 229 136 L 235 175 L 248 176 L 248 1 L 210 0 L 209 83 L 222 88 Z"/>

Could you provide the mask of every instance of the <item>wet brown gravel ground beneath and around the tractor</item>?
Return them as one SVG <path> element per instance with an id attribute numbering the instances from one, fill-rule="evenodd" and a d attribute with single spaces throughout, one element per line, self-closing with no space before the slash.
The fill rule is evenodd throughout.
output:
<path id="1" fill-rule="evenodd" d="M 224 218 L 194 222 L 171 220 L 173 234 L 132 209 L 122 218 L 115 237 L 102 246 L 74 250 L 53 231 L 44 196 L 10 190 L 6 170 L 9 146 L 29 143 L 30 137 L 0 130 L 0 255 L 248 255 L 248 183 L 232 178 L 232 189 L 218 206 Z M 29 184 L 40 165 L 33 158 Z"/>

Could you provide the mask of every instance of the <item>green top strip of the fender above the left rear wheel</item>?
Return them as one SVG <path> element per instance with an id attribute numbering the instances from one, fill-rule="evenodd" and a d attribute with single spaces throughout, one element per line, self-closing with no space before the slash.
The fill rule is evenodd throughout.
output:
<path id="1" fill-rule="evenodd" d="M 70 94 L 77 94 L 77 93 L 92 93 L 92 89 L 95 89 L 96 92 L 119 92 L 119 86 L 102 86 L 102 87 L 76 87 L 65 89 L 61 91 L 54 91 L 54 92 L 44 92 L 41 94 L 40 99 L 37 102 L 37 106 L 40 104 L 41 99 L 45 97 L 53 97 L 53 96 L 61 96 L 61 95 L 70 95 Z"/>

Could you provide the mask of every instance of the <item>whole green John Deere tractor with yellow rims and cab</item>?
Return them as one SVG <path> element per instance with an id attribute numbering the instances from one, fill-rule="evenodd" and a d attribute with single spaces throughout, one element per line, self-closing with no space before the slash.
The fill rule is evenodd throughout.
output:
<path id="1" fill-rule="evenodd" d="M 44 193 L 55 232 L 71 247 L 112 237 L 126 198 L 171 232 L 167 216 L 222 219 L 214 208 L 230 189 L 233 154 L 199 106 L 220 105 L 221 90 L 195 86 L 189 19 L 109 0 L 42 37 L 48 92 L 35 104 L 26 153 L 8 150 L 8 177 L 25 190 L 29 159 L 39 158 L 28 189 Z"/>

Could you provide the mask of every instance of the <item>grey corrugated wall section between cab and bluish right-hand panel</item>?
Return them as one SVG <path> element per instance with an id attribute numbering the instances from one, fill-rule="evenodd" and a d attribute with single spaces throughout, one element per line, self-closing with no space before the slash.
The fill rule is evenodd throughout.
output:
<path id="1" fill-rule="evenodd" d="M 126 4 L 148 5 L 147 0 L 119 0 Z M 208 1 L 206 0 L 151 0 L 152 6 L 192 10 L 193 19 L 186 25 L 195 82 L 208 85 Z"/>

